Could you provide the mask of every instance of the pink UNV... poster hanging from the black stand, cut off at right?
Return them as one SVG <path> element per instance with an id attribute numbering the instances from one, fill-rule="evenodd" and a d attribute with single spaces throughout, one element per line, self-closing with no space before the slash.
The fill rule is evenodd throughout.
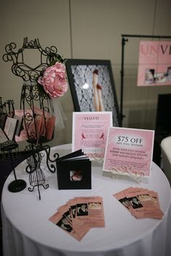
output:
<path id="1" fill-rule="evenodd" d="M 171 85 L 171 41 L 141 41 L 138 86 Z"/>

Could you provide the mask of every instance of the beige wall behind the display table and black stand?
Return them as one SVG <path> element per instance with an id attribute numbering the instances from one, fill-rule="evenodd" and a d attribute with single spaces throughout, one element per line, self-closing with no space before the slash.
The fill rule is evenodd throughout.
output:
<path id="1" fill-rule="evenodd" d="M 67 58 L 110 59 L 120 104 L 121 35 L 171 36 L 170 0 L 6 0 L 0 9 L 0 56 L 11 42 L 22 46 L 23 38 L 39 38 L 41 46 L 55 45 Z M 157 95 L 171 93 L 171 86 L 138 88 L 138 43 L 125 45 L 123 126 L 155 127 Z M 35 60 L 36 61 L 36 60 Z M 0 58 L 2 99 L 14 99 L 20 107 L 22 80 L 12 74 L 11 62 Z M 66 128 L 51 145 L 70 143 L 73 104 L 70 89 L 61 99 L 67 115 Z"/>

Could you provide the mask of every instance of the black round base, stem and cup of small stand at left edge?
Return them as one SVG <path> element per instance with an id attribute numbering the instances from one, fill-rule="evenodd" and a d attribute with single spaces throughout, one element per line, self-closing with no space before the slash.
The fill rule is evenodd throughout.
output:
<path id="1" fill-rule="evenodd" d="M 14 170 L 14 162 L 12 157 L 12 150 L 18 149 L 18 144 L 15 141 L 5 141 L 4 144 L 1 144 L 1 152 L 9 155 L 9 159 L 12 165 L 12 170 L 14 173 L 14 181 L 9 183 L 8 189 L 10 192 L 20 192 L 27 186 L 27 183 L 22 179 L 17 179 L 15 170 Z"/>

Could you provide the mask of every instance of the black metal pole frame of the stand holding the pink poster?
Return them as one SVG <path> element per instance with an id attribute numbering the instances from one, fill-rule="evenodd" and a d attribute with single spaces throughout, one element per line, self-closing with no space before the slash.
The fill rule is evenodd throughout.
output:
<path id="1" fill-rule="evenodd" d="M 122 35 L 122 64 L 121 64 L 121 80 L 120 80 L 120 120 L 121 120 L 121 126 L 122 126 L 122 120 L 123 117 L 125 117 L 122 113 L 122 107 L 123 107 L 123 88 L 124 88 L 124 47 L 125 42 L 128 42 L 128 38 L 171 38 L 171 36 L 150 36 L 150 35 Z"/>

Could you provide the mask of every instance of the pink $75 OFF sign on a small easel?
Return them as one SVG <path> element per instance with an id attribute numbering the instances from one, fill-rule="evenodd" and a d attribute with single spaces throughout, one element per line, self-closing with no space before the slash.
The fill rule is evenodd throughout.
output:
<path id="1" fill-rule="evenodd" d="M 150 176 L 154 131 L 109 128 L 104 171 L 133 176 Z"/>

